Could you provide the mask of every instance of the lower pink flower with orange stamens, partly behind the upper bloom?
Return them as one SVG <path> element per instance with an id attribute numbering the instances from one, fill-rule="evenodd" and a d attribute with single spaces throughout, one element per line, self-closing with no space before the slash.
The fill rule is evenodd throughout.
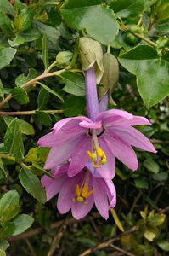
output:
<path id="1" fill-rule="evenodd" d="M 76 176 L 68 177 L 69 166 L 70 164 L 65 164 L 52 169 L 54 179 L 42 177 L 41 183 L 46 190 L 47 201 L 59 193 L 57 207 L 61 214 L 71 209 L 74 218 L 83 218 L 95 204 L 100 215 L 105 219 L 109 218 L 109 210 L 116 203 L 113 182 L 93 177 L 87 167 Z"/>

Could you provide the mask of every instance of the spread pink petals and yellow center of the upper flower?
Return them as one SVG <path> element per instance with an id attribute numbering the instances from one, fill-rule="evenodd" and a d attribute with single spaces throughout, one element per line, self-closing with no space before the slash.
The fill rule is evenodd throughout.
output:
<path id="1" fill-rule="evenodd" d="M 99 113 L 94 121 L 87 117 L 63 119 L 38 141 L 42 147 L 51 147 L 44 168 L 51 169 L 71 159 L 69 177 L 89 166 L 94 176 L 111 179 L 115 175 L 116 157 L 135 171 L 138 160 L 132 146 L 153 153 L 156 150 L 133 125 L 150 123 L 144 117 L 118 109 Z"/>

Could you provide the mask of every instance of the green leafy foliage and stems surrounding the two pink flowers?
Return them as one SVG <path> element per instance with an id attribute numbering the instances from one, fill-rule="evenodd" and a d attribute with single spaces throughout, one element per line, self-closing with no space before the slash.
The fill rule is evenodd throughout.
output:
<path id="1" fill-rule="evenodd" d="M 168 254 L 168 34 L 167 0 L 0 0 L 0 255 Z M 118 58 L 109 107 L 148 117 L 153 125 L 140 129 L 158 150 L 137 150 L 134 173 L 117 161 L 118 217 L 107 222 L 95 208 L 79 222 L 59 215 L 40 184 L 48 148 L 37 148 L 38 138 L 86 114 L 85 35 Z"/>

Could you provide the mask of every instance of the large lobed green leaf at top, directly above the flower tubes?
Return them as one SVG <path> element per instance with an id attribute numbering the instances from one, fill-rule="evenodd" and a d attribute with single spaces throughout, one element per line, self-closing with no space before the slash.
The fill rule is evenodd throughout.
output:
<path id="1" fill-rule="evenodd" d="M 67 0 L 61 7 L 61 14 L 70 27 L 76 30 L 85 28 L 101 44 L 110 44 L 119 27 L 113 11 L 100 3 L 97 0 Z"/>

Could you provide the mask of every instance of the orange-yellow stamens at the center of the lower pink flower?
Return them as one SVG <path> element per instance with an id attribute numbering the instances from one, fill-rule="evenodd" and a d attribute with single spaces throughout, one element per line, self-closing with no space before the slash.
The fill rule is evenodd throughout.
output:
<path id="1" fill-rule="evenodd" d="M 76 197 L 73 198 L 73 201 L 82 202 L 84 205 L 86 205 L 87 204 L 86 199 L 87 197 L 93 194 L 93 191 L 94 191 L 93 189 L 89 191 L 86 178 L 84 178 L 81 187 L 79 186 L 79 184 L 76 184 L 76 187 L 75 187 Z"/>

